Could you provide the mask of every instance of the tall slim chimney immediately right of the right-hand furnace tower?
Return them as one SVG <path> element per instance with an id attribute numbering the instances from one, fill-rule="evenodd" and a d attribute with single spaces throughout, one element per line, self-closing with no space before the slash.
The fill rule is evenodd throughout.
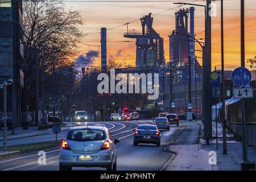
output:
<path id="1" fill-rule="evenodd" d="M 190 36 L 195 38 L 195 24 L 194 24 L 194 17 L 195 17 L 195 7 L 190 7 Z M 191 58 L 191 82 L 195 82 L 195 40 L 190 38 L 190 58 Z"/>

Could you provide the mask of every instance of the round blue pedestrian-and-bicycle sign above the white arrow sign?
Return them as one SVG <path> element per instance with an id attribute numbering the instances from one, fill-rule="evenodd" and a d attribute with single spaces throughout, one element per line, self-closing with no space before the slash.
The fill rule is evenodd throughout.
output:
<path id="1" fill-rule="evenodd" d="M 245 86 L 251 81 L 251 72 L 244 67 L 237 68 L 232 73 L 232 81 L 237 86 Z"/>

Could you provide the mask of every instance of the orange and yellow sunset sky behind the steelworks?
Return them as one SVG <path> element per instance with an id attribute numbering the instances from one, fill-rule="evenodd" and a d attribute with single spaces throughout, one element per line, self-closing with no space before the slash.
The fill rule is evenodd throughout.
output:
<path id="1" fill-rule="evenodd" d="M 121 24 L 138 20 L 148 13 L 154 17 L 153 28 L 164 38 L 164 56 L 169 60 L 168 34 L 175 29 L 175 11 L 169 10 L 179 5 L 172 2 L 133 2 L 133 3 L 106 3 L 106 2 L 79 2 L 76 0 L 65 1 L 67 9 L 79 10 L 84 21 L 80 27 L 87 33 L 83 42 L 94 46 L 81 44 L 80 51 L 86 53 L 90 50 L 100 51 L 100 29 L 107 29 Z M 192 2 L 192 1 L 177 1 Z M 205 5 L 205 1 L 193 1 L 193 3 Z M 212 68 L 220 69 L 220 1 L 214 1 L 217 5 L 217 16 L 212 18 Z M 189 6 L 183 6 L 187 8 Z M 182 8 L 183 8 L 182 7 Z M 204 38 L 204 8 L 195 6 L 195 33 L 196 38 Z M 166 11 L 169 10 L 169 11 Z M 164 13 L 160 13 L 166 11 Z M 158 14 L 160 13 L 160 14 Z M 157 15 L 154 15 L 157 14 Z M 240 1 L 224 0 L 224 41 L 225 41 L 225 69 L 233 70 L 240 66 Z M 141 22 L 129 24 L 129 31 L 141 32 Z M 126 26 L 107 31 L 107 49 L 119 63 L 135 65 L 135 39 L 123 37 Z M 132 42 L 122 42 L 122 41 Z M 245 53 L 246 60 L 256 55 L 256 1 L 245 1 Z M 196 49 L 200 46 L 196 44 Z M 202 53 L 197 51 L 197 56 Z M 109 55 L 108 55 L 109 56 Z M 108 57 L 108 59 L 110 56 Z M 201 63 L 201 60 L 199 59 Z M 100 66 L 100 57 L 97 57 L 94 65 Z M 247 64 L 248 66 L 248 64 Z"/>

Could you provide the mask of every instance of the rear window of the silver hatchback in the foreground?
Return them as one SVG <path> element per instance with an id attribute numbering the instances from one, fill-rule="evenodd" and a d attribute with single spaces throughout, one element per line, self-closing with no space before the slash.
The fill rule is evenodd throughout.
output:
<path id="1" fill-rule="evenodd" d="M 77 141 L 94 141 L 94 140 L 104 140 L 106 135 L 104 131 L 101 130 L 71 130 L 68 133 L 68 140 L 77 140 Z"/>

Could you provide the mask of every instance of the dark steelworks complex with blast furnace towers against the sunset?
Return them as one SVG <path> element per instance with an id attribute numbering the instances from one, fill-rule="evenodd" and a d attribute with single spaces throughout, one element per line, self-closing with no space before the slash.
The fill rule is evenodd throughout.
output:
<path id="1" fill-rule="evenodd" d="M 202 87 L 200 83 L 202 71 L 195 57 L 195 40 L 193 39 L 195 38 L 194 11 L 195 8 L 190 7 L 189 9 L 180 9 L 175 12 L 175 32 L 169 35 L 170 60 L 164 59 L 163 38 L 153 28 L 153 17 L 151 13 L 140 19 L 142 32 L 129 32 L 127 23 L 127 32 L 123 34 L 125 38 L 136 39 L 136 67 L 120 68 L 117 72 L 159 73 L 159 85 L 156 85 L 159 87 L 159 98 L 156 102 L 159 103 L 159 109 L 163 111 L 170 110 L 172 102 L 170 98 L 175 98 L 179 110 L 186 110 L 184 108 L 184 100 L 188 100 L 189 59 L 191 63 L 191 82 L 193 89 L 192 108 L 196 108 L 194 111 L 198 110 L 199 113 L 201 110 L 201 98 L 199 95 Z M 104 71 L 107 64 L 105 28 L 101 28 L 101 51 L 101 67 L 102 71 Z M 196 82 L 198 86 L 195 92 Z M 170 86 L 174 90 L 171 94 Z M 182 97 L 180 95 L 178 96 L 175 91 L 177 86 L 185 89 L 183 90 Z M 197 98 L 200 98 L 196 105 L 193 101 L 195 94 Z"/>

